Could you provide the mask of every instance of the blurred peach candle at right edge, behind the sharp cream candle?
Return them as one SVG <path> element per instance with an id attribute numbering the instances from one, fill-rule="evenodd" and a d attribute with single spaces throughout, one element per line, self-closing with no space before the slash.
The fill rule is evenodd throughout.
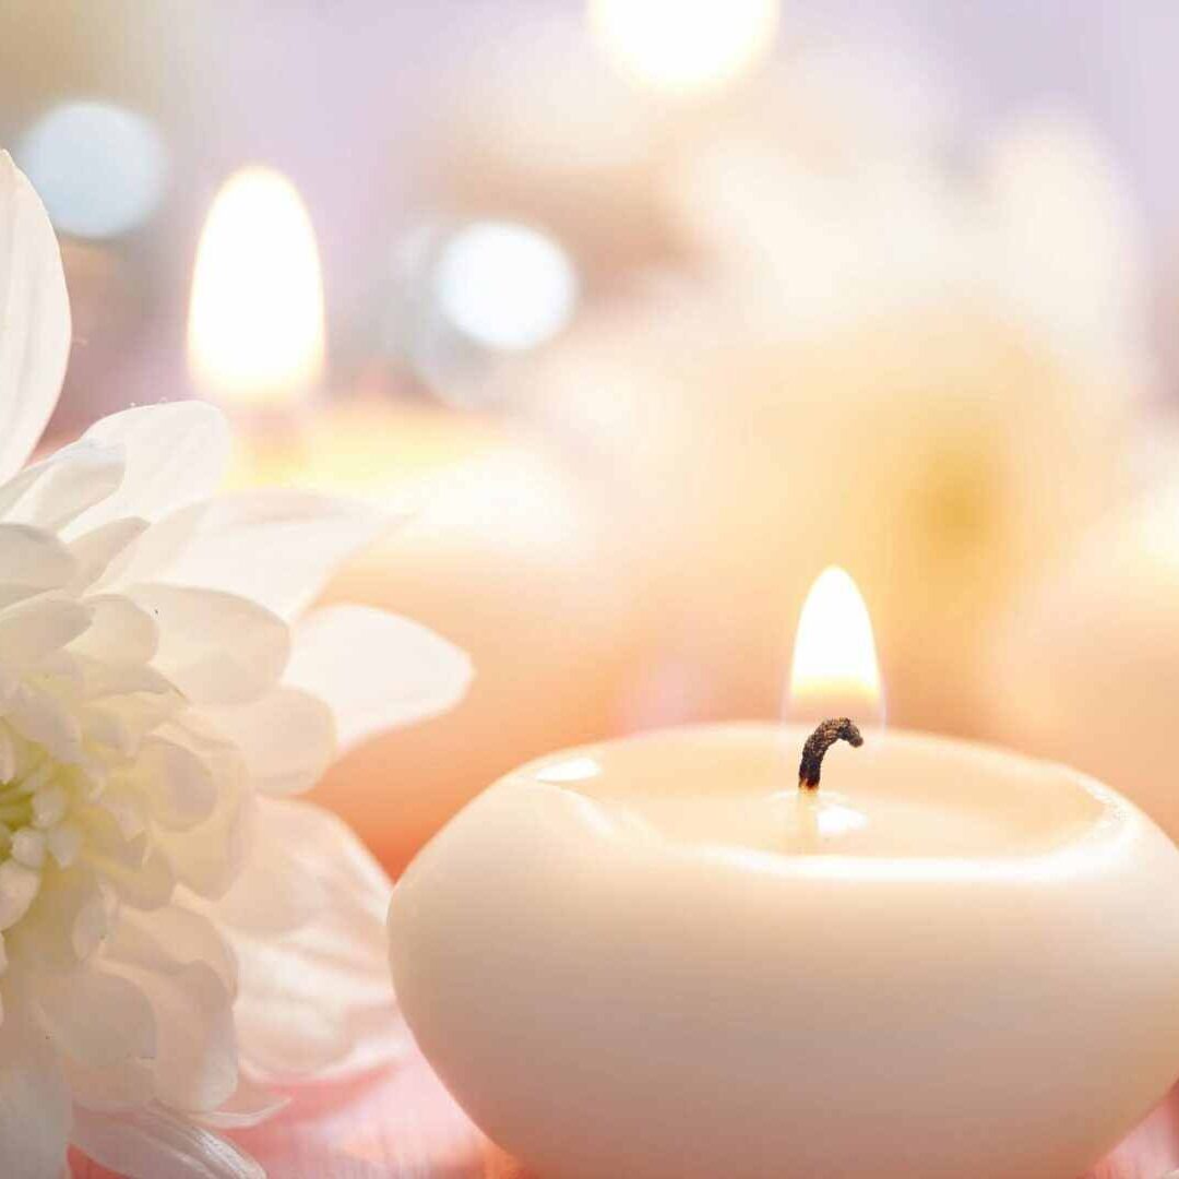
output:
<path id="1" fill-rule="evenodd" d="M 1179 839 L 1179 485 L 1114 512 L 1029 586 L 993 644 L 990 732 L 1067 757 Z M 1015 683 L 1019 691 L 1003 685 Z"/>

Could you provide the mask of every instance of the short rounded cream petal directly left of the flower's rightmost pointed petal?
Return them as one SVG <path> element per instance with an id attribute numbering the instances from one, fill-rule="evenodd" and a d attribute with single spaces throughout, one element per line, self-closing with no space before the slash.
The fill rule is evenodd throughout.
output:
<path id="1" fill-rule="evenodd" d="M 271 689 L 290 652 L 286 624 L 217 590 L 138 585 L 127 597 L 159 627 L 154 666 L 197 704 L 246 704 Z"/>

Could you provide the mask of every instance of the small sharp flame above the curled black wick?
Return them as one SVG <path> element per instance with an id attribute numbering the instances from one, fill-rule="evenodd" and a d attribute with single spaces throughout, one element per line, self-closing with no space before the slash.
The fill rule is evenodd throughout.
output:
<path id="1" fill-rule="evenodd" d="M 816 579 L 798 615 L 788 711 L 797 719 L 883 719 L 876 639 L 851 577 L 836 565 Z"/>

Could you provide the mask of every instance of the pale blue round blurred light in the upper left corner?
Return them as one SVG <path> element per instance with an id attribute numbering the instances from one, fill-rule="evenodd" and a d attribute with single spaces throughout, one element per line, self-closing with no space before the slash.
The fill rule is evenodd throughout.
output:
<path id="1" fill-rule="evenodd" d="M 141 225 L 164 192 L 167 154 L 145 118 L 110 103 L 65 103 L 38 119 L 17 150 L 53 224 L 84 238 Z"/>

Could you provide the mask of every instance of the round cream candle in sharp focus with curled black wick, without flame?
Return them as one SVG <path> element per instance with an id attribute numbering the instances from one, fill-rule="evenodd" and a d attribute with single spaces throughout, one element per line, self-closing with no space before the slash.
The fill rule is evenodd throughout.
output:
<path id="1" fill-rule="evenodd" d="M 526 1166 L 1072 1179 L 1165 1093 L 1166 836 L 1092 779 L 977 745 L 865 730 L 824 765 L 855 739 L 834 730 L 558 753 L 402 877 L 402 1009 Z"/>

